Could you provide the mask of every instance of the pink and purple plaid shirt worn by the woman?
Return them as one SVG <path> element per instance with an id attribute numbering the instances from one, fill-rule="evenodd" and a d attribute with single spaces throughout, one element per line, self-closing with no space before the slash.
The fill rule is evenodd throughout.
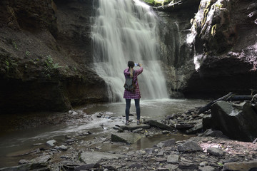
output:
<path id="1" fill-rule="evenodd" d="M 135 82 L 136 90 L 134 92 L 131 92 L 129 90 L 124 90 L 124 98 L 127 98 L 127 99 L 141 98 L 138 81 L 137 81 L 137 76 L 143 72 L 143 67 L 140 67 L 138 70 L 134 70 L 134 71 L 135 72 L 134 72 L 134 76 L 133 76 L 133 81 L 136 81 Z M 124 70 L 124 76 L 125 76 L 125 79 L 130 77 L 129 67 Z"/>

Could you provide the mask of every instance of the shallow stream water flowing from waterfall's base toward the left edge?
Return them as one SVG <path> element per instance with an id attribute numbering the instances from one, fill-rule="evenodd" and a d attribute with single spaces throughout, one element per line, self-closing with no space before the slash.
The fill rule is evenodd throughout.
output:
<path id="1" fill-rule="evenodd" d="M 206 100 L 141 100 L 141 119 L 163 120 L 166 115 L 183 113 L 189 109 L 203 106 L 205 104 Z M 92 134 L 87 135 L 84 138 L 84 142 L 94 138 L 110 137 L 111 133 L 117 132 L 117 130 L 113 129 L 115 125 L 124 124 L 124 110 L 125 103 L 93 104 L 74 109 L 76 112 L 70 113 L 69 115 L 82 113 L 82 117 L 76 118 L 76 120 L 67 120 L 64 124 L 42 125 L 39 128 L 27 128 L 8 133 L 2 133 L 3 131 L 0 130 L 0 167 L 18 165 L 19 160 L 26 158 L 26 156 L 18 155 L 35 149 L 35 144 L 41 143 L 44 145 L 48 140 L 56 140 L 61 143 L 64 142 L 65 136 L 67 135 L 79 136 L 81 133 L 88 132 Z M 131 102 L 130 113 L 136 116 L 136 109 L 133 100 Z M 135 116 L 131 116 L 130 120 L 136 120 Z M 11 117 L 15 116 L 12 115 Z M 47 117 L 47 115 L 44 117 Z M 187 139 L 188 136 L 178 133 L 176 135 L 171 134 L 169 136 L 158 135 L 151 138 L 142 138 L 135 144 L 131 145 L 131 147 L 134 150 L 140 150 L 147 147 L 153 147 L 153 145 L 156 145 L 158 142 L 170 138 L 184 140 Z M 119 147 L 114 147 L 113 145 L 102 145 L 101 150 L 119 150 Z"/>

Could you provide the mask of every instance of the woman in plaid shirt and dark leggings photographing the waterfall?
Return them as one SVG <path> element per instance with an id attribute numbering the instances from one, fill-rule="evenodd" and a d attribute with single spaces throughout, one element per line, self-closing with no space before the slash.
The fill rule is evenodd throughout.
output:
<path id="1" fill-rule="evenodd" d="M 133 91 L 130 90 L 124 90 L 124 98 L 126 99 L 126 125 L 129 125 L 129 110 L 131 107 L 131 99 L 135 100 L 136 105 L 136 118 L 137 118 L 137 124 L 140 124 L 140 90 L 138 86 L 137 76 L 143 72 L 143 67 L 141 63 L 135 63 L 133 61 L 128 62 L 128 68 L 124 70 L 124 76 L 126 78 L 133 78 L 133 83 L 135 84 L 136 88 Z M 133 70 L 134 66 L 140 66 L 138 70 Z"/>

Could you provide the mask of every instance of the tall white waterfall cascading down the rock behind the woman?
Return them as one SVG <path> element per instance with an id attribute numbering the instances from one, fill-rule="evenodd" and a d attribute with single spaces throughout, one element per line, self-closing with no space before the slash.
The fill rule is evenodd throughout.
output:
<path id="1" fill-rule="evenodd" d="M 121 101 L 128 61 L 143 64 L 141 97 L 168 98 L 158 56 L 156 16 L 139 0 L 97 0 L 92 26 L 96 73 L 108 84 L 111 101 Z M 136 67 L 135 67 L 136 69 Z"/>

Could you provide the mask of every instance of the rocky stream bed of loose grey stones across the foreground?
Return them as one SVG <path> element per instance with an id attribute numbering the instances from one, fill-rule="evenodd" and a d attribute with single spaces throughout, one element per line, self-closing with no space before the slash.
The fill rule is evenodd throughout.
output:
<path id="1" fill-rule="evenodd" d="M 159 121 L 143 119 L 141 125 L 136 125 L 132 113 L 129 126 L 113 125 L 105 136 L 94 137 L 94 133 L 87 131 L 31 145 L 31 150 L 13 156 L 19 159 L 18 166 L 0 170 L 257 170 L 255 141 L 231 140 L 221 131 L 211 129 L 188 134 L 189 129 L 211 113 L 208 110 L 198 114 L 198 110 L 174 113 Z M 82 117 L 85 115 L 81 110 L 66 113 L 67 120 Z M 99 113 L 97 117 L 106 115 Z M 171 138 L 179 133 L 185 133 L 183 139 Z M 163 137 L 166 138 L 161 140 Z M 160 141 L 142 148 L 143 138 Z M 136 143 L 137 149 L 133 146 Z"/>

